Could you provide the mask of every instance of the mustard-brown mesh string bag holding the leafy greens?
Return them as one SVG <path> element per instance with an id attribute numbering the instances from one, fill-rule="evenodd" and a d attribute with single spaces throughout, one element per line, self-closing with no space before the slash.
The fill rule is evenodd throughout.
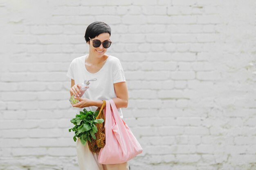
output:
<path id="1" fill-rule="evenodd" d="M 97 133 L 95 134 L 96 139 L 91 138 L 92 142 L 90 142 L 88 140 L 88 146 L 89 146 L 90 150 L 95 153 L 99 152 L 101 150 L 101 148 L 103 148 L 106 144 L 106 142 L 105 142 L 105 115 L 103 112 L 103 109 L 105 108 L 105 106 L 106 106 L 106 101 L 103 100 L 103 104 L 102 104 L 101 108 L 97 109 L 97 110 L 99 110 L 99 114 L 95 119 L 103 119 L 104 122 L 100 123 L 100 124 L 96 124 L 97 129 L 98 129 Z"/>

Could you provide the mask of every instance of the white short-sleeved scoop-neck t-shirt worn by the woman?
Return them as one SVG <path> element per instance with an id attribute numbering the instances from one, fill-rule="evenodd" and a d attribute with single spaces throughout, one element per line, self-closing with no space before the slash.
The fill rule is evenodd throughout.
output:
<path id="1" fill-rule="evenodd" d="M 67 71 L 67 77 L 74 79 L 75 84 L 82 83 L 89 79 L 97 78 L 96 81 L 90 82 L 89 88 L 83 94 L 83 98 L 92 99 L 95 101 L 109 100 L 117 97 L 115 93 L 114 83 L 126 82 L 124 70 L 120 60 L 117 57 L 109 55 L 103 67 L 97 73 L 90 73 L 85 68 L 85 57 L 75 58 Z M 98 107 L 86 107 L 86 110 L 97 110 Z M 83 111 L 83 108 L 78 108 Z M 120 117 L 123 117 L 121 108 L 118 109 Z"/>

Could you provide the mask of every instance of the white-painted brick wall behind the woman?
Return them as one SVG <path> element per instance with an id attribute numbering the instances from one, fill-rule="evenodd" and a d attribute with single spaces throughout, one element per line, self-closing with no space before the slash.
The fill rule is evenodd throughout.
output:
<path id="1" fill-rule="evenodd" d="M 0 1 L 0 170 L 77 170 L 70 62 L 88 24 L 112 28 L 124 119 L 144 152 L 131 170 L 256 169 L 256 3 Z"/>

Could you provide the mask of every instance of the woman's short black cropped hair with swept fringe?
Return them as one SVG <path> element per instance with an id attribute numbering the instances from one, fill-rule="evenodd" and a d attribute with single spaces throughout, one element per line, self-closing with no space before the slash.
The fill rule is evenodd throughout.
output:
<path id="1" fill-rule="evenodd" d="M 109 33 L 109 35 L 111 35 L 110 26 L 105 22 L 101 22 L 101 21 L 93 22 L 92 24 L 88 25 L 85 31 L 85 36 L 84 36 L 85 41 L 88 42 L 90 40 L 89 37 L 92 39 L 102 33 Z"/>

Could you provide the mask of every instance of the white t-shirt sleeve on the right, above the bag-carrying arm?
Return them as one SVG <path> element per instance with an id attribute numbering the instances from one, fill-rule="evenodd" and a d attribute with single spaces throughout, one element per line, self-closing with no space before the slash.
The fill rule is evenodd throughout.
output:
<path id="1" fill-rule="evenodd" d="M 117 59 L 113 66 L 113 83 L 126 82 L 124 69 L 121 62 Z"/>

